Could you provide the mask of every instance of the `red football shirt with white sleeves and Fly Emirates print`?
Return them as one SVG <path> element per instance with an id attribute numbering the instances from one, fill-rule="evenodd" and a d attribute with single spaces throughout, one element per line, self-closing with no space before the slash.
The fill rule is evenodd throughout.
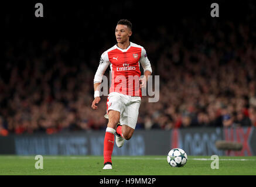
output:
<path id="1" fill-rule="evenodd" d="M 94 83 L 101 82 L 108 65 L 111 69 L 111 92 L 118 92 L 130 96 L 142 96 L 139 88 L 141 71 L 139 64 L 152 72 L 151 64 L 146 56 L 144 47 L 130 42 L 127 49 L 120 49 L 117 45 L 105 51 L 100 58 L 100 65 L 94 76 Z"/>

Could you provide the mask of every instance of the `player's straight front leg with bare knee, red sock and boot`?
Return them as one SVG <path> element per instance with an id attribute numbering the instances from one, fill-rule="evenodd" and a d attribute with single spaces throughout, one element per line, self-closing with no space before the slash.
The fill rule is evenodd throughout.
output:
<path id="1" fill-rule="evenodd" d="M 105 132 L 104 138 L 104 168 L 103 169 L 112 169 L 111 156 L 114 148 L 115 140 L 115 129 L 117 128 L 117 123 L 120 120 L 120 112 L 115 110 L 108 111 L 108 125 Z"/>

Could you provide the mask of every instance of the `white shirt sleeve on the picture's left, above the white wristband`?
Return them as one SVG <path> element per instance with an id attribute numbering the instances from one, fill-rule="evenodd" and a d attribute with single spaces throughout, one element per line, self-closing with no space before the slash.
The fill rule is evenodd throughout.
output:
<path id="1" fill-rule="evenodd" d="M 108 65 L 110 65 L 110 61 L 108 60 L 108 54 L 104 52 L 103 54 L 101 54 L 100 65 L 98 65 L 98 69 L 94 75 L 94 84 L 102 81 L 103 75 L 107 70 Z"/>

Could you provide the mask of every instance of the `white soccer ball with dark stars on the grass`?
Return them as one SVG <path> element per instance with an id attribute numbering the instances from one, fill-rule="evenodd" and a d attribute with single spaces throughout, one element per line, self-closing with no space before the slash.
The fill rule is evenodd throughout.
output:
<path id="1" fill-rule="evenodd" d="M 171 167 L 183 167 L 187 162 L 187 154 L 181 148 L 173 148 L 167 155 Z"/>

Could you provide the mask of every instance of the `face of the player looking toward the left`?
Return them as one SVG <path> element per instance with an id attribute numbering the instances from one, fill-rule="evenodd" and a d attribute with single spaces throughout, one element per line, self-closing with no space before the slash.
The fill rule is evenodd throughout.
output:
<path id="1" fill-rule="evenodd" d="M 132 31 L 127 25 L 117 25 L 117 27 L 115 27 L 115 38 L 117 39 L 117 43 L 125 43 L 129 40 L 131 35 Z"/>

